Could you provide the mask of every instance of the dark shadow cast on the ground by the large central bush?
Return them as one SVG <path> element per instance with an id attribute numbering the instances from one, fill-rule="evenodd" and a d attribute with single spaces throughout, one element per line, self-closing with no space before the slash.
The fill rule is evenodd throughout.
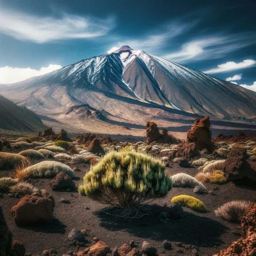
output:
<path id="1" fill-rule="evenodd" d="M 167 239 L 194 245 L 205 244 L 210 247 L 216 243 L 223 243 L 219 237 L 227 230 L 227 227 L 220 222 L 185 212 L 186 217 L 181 221 L 170 219 L 170 222 L 166 224 L 158 219 L 159 213 L 166 211 L 166 207 L 158 205 L 150 207 L 153 215 L 144 215 L 138 219 L 115 217 L 103 211 L 97 211 L 94 214 L 100 219 L 102 227 L 111 231 L 125 230 L 137 237 L 159 241 Z"/>

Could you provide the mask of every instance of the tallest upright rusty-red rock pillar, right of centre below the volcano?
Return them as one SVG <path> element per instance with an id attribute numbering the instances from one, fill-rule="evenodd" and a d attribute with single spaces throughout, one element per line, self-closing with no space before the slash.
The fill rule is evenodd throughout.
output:
<path id="1" fill-rule="evenodd" d="M 210 125 L 208 116 L 196 118 L 195 123 L 187 133 L 187 142 L 194 142 L 199 151 L 206 148 L 209 152 L 212 152 L 214 144 L 211 142 Z"/>

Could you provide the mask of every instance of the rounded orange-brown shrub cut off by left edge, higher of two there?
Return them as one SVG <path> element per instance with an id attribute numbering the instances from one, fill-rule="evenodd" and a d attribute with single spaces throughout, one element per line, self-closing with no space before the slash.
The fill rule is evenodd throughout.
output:
<path id="1" fill-rule="evenodd" d="M 22 162 L 29 162 L 27 158 L 19 154 L 0 152 L 0 169 L 14 168 Z"/>

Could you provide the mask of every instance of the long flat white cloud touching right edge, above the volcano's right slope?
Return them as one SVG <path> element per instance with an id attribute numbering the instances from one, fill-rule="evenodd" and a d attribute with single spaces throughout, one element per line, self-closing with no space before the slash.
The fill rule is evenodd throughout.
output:
<path id="1" fill-rule="evenodd" d="M 231 71 L 235 69 L 240 68 L 248 68 L 256 64 L 255 60 L 243 60 L 239 63 L 236 63 L 234 61 L 228 61 L 223 64 L 219 64 L 217 68 L 209 69 L 206 71 L 203 71 L 206 74 L 215 74 L 215 73 L 221 73 L 226 71 Z"/>

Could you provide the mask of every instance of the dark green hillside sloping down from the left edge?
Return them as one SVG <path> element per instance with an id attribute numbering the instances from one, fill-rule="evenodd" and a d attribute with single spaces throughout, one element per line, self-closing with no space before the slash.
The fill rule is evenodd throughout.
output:
<path id="1" fill-rule="evenodd" d="M 0 128 L 12 131 L 38 132 L 47 127 L 33 111 L 25 106 L 17 106 L 14 102 L 0 95 Z"/>

